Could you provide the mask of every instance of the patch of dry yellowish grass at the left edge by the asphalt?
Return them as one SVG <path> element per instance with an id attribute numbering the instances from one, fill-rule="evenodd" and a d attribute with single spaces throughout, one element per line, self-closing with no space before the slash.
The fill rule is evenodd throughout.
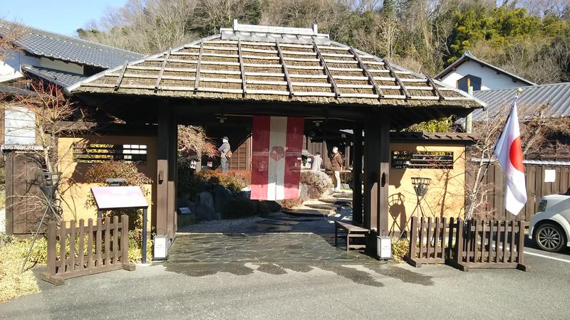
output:
<path id="1" fill-rule="evenodd" d="M 6 245 L 0 247 L 0 302 L 39 292 L 31 267 L 44 263 L 46 259 L 42 253 L 45 252 L 43 247 L 46 247 L 46 240 L 38 239 L 31 254 L 31 261 L 28 262 L 24 273 L 20 274 L 31 240 L 8 240 Z"/>

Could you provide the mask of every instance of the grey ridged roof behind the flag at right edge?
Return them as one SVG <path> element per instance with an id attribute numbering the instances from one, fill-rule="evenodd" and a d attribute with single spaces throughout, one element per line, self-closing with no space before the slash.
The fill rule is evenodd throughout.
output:
<path id="1" fill-rule="evenodd" d="M 551 85 L 532 85 L 522 89 L 517 105 L 527 112 L 537 110 L 547 105 L 543 110 L 545 117 L 570 117 L 570 82 L 554 83 Z M 474 93 L 477 99 L 487 102 L 485 111 L 473 112 L 473 120 L 494 117 L 502 107 L 511 105 L 514 95 L 519 88 L 500 90 L 482 90 Z"/>

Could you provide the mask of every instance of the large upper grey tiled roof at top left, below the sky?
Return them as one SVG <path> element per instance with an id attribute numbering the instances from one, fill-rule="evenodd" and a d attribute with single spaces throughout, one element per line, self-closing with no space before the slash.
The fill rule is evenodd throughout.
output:
<path id="1" fill-rule="evenodd" d="M 28 53 L 80 65 L 113 68 L 122 65 L 125 61 L 138 60 L 144 56 L 140 53 L 0 20 L 0 36 L 9 32 L 15 33 L 16 46 Z"/>

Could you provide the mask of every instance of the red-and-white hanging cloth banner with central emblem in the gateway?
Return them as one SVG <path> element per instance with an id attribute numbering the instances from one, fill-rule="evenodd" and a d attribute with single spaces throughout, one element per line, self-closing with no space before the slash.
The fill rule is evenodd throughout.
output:
<path id="1" fill-rule="evenodd" d="M 252 199 L 299 198 L 304 118 L 254 117 Z"/>

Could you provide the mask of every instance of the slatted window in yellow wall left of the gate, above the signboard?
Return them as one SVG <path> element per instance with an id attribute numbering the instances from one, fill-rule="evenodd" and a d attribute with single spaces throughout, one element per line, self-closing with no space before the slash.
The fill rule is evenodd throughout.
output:
<path id="1" fill-rule="evenodd" d="M 147 163 L 146 144 L 73 144 L 73 161 L 100 164 L 109 161 Z"/>

